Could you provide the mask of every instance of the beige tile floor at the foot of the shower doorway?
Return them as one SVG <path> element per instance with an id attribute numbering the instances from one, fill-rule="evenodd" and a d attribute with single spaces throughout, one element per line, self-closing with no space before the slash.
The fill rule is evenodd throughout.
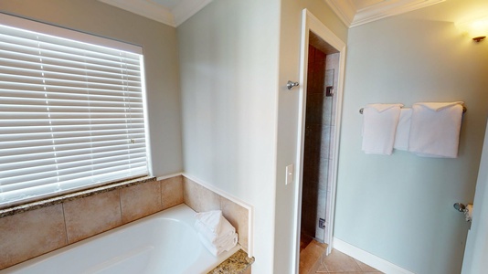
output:
<path id="1" fill-rule="evenodd" d="M 307 244 L 307 242 L 309 242 Z M 341 274 L 381 274 L 377 269 L 333 249 L 325 256 L 326 244 L 314 239 L 301 240 L 300 274 L 341 273 Z"/>

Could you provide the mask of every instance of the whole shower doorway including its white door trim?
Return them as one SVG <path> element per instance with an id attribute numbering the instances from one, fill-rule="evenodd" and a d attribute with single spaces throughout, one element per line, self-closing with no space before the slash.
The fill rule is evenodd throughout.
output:
<path id="1" fill-rule="evenodd" d="M 296 273 L 300 268 L 302 230 L 313 239 L 327 243 L 327 255 L 334 244 L 335 187 L 345 69 L 345 43 L 307 9 L 303 9 L 302 18 L 302 87 L 297 145 L 299 184 L 295 192 L 294 234 Z M 318 61 L 315 55 L 319 56 Z M 324 63 L 327 58 L 336 59 L 334 66 L 319 69 L 324 73 L 314 71 L 318 68 L 314 65 L 309 68 L 309 60 L 320 63 L 321 56 Z M 318 79 L 309 79 L 314 78 L 314 74 Z M 311 90 L 309 85 L 312 86 Z"/>

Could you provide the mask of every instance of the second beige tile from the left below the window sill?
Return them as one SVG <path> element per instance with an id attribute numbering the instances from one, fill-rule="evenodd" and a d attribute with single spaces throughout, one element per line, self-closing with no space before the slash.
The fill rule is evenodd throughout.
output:
<path id="1" fill-rule="evenodd" d="M 69 201 L 63 208 L 70 244 L 122 225 L 119 190 Z"/>

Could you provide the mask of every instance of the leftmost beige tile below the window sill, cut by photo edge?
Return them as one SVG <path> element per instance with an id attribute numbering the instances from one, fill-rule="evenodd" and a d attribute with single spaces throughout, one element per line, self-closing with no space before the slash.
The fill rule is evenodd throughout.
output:
<path id="1" fill-rule="evenodd" d="M 0 218 L 0 269 L 67 245 L 62 205 Z"/>

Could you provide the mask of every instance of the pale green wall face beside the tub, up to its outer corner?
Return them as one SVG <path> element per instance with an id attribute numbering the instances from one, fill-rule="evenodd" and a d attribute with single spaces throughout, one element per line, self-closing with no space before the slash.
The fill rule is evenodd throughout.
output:
<path id="1" fill-rule="evenodd" d="M 177 27 L 185 173 L 254 206 L 273 273 L 279 0 L 214 0 Z"/>

